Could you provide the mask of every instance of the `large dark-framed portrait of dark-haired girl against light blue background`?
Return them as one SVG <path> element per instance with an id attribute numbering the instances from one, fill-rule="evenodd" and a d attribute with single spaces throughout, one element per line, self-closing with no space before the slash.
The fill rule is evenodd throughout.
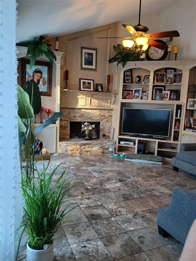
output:
<path id="1" fill-rule="evenodd" d="M 38 77 L 38 87 L 41 96 L 51 96 L 52 84 L 52 65 L 50 62 L 36 61 L 32 69 L 30 69 L 30 61 L 28 59 L 21 59 L 21 86 L 25 82 Z M 36 79 L 35 79 L 36 80 Z"/>

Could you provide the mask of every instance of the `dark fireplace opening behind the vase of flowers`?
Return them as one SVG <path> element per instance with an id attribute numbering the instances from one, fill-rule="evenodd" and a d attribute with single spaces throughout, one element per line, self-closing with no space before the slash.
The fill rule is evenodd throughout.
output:
<path id="1" fill-rule="evenodd" d="M 100 138 L 100 121 L 88 121 L 91 125 L 95 124 L 95 128 L 91 130 L 91 139 L 99 139 Z M 70 121 L 70 139 L 73 137 L 78 137 L 81 139 L 85 138 L 84 131 L 81 132 L 83 121 Z"/>

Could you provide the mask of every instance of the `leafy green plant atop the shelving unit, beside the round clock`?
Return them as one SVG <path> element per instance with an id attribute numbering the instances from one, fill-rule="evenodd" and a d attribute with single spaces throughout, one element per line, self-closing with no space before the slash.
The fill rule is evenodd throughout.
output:
<path id="1" fill-rule="evenodd" d="M 114 50 L 117 54 L 109 58 L 108 62 L 117 62 L 117 66 L 122 62 L 123 67 L 125 67 L 128 61 L 140 61 L 140 52 L 136 52 L 132 48 L 127 49 L 123 47 L 122 44 L 117 44 L 117 47 L 113 45 Z"/>

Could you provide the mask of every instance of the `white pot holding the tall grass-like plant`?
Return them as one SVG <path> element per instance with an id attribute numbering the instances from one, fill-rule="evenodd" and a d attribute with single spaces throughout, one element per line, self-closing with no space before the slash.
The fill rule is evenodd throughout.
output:
<path id="1" fill-rule="evenodd" d="M 27 261 L 53 261 L 54 242 L 49 248 L 35 250 L 27 244 Z"/>

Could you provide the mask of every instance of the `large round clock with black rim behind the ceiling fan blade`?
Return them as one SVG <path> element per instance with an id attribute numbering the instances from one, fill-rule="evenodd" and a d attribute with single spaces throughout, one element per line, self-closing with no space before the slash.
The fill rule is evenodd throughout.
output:
<path id="1" fill-rule="evenodd" d="M 154 41 L 167 45 L 167 43 L 165 43 L 163 40 L 157 39 Z M 165 60 L 167 55 L 168 55 L 168 49 L 161 50 L 154 46 L 149 46 L 147 49 L 147 53 L 146 53 L 146 59 L 148 61 L 163 61 L 163 60 Z"/>

